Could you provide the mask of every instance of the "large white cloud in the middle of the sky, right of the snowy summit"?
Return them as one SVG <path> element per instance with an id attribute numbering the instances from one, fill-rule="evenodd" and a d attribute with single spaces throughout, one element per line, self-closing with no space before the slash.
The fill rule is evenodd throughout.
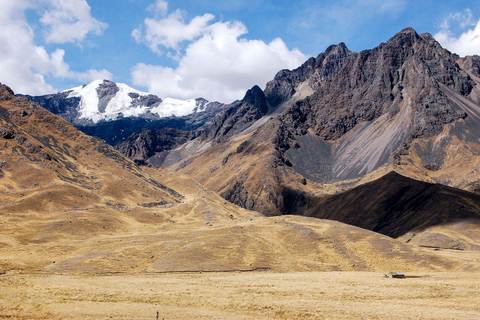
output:
<path id="1" fill-rule="evenodd" d="M 178 10 L 145 19 L 132 36 L 154 52 L 170 53 L 178 65 L 139 63 L 132 70 L 134 84 L 163 97 L 231 102 L 253 85 L 265 85 L 279 70 L 298 67 L 307 59 L 280 38 L 270 43 L 242 38 L 248 31 L 241 22 L 213 21 L 213 15 L 205 14 L 187 22 L 185 12 Z"/>

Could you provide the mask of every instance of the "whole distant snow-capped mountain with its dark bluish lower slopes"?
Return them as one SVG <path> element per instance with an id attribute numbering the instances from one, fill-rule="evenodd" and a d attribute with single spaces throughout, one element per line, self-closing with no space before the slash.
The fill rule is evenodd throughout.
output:
<path id="1" fill-rule="evenodd" d="M 115 145 L 145 128 L 200 128 L 223 108 L 203 98 L 160 98 L 123 83 L 96 80 L 45 96 L 27 96 L 83 132 Z"/>

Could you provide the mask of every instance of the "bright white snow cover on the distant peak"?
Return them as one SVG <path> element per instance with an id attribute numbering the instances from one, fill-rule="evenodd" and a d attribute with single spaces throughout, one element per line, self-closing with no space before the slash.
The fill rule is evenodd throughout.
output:
<path id="1" fill-rule="evenodd" d="M 204 99 L 162 100 L 156 95 L 108 80 L 96 80 L 62 93 L 68 93 L 67 99 L 80 98 L 77 109 L 79 120 L 91 120 L 93 123 L 155 115 L 158 118 L 182 117 L 203 112 L 208 104 Z"/>

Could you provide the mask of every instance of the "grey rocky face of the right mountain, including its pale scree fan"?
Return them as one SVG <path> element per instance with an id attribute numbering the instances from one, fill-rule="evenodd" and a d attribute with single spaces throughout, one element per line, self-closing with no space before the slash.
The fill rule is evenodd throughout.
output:
<path id="1" fill-rule="evenodd" d="M 280 115 L 286 129 L 276 139 L 293 137 L 279 157 L 320 182 L 368 174 L 392 154 L 408 153 L 414 139 L 437 136 L 445 125 L 465 119 L 468 113 L 443 88 L 467 97 L 476 85 L 457 55 L 411 28 L 372 50 L 353 53 L 340 44 L 309 61 L 287 79 L 289 73 L 281 73 L 267 86 L 267 96 L 280 91 L 283 97 L 282 88 L 295 83 L 313 91 Z M 475 61 L 465 60 L 472 71 Z M 299 83 L 305 74 L 309 76 Z M 314 140 L 313 149 L 302 148 Z M 322 165 L 313 168 L 312 157 Z"/>

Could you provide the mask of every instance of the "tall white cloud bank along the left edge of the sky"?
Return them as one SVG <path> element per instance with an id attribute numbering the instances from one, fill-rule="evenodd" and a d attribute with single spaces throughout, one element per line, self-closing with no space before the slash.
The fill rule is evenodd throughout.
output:
<path id="1" fill-rule="evenodd" d="M 47 2 L 42 1 L 41 6 L 51 4 Z M 72 71 L 64 61 L 64 50 L 56 49 L 49 53 L 45 47 L 35 45 L 35 34 L 27 23 L 25 10 L 39 9 L 38 3 L 32 0 L 2 0 L 0 82 L 18 93 L 40 95 L 55 91 L 47 83 L 47 76 L 82 82 L 99 77 L 111 78 L 112 75 L 106 70 Z M 71 5 L 68 1 L 65 3 L 67 6 Z M 75 20 L 75 18 L 72 19 L 72 21 Z"/>

